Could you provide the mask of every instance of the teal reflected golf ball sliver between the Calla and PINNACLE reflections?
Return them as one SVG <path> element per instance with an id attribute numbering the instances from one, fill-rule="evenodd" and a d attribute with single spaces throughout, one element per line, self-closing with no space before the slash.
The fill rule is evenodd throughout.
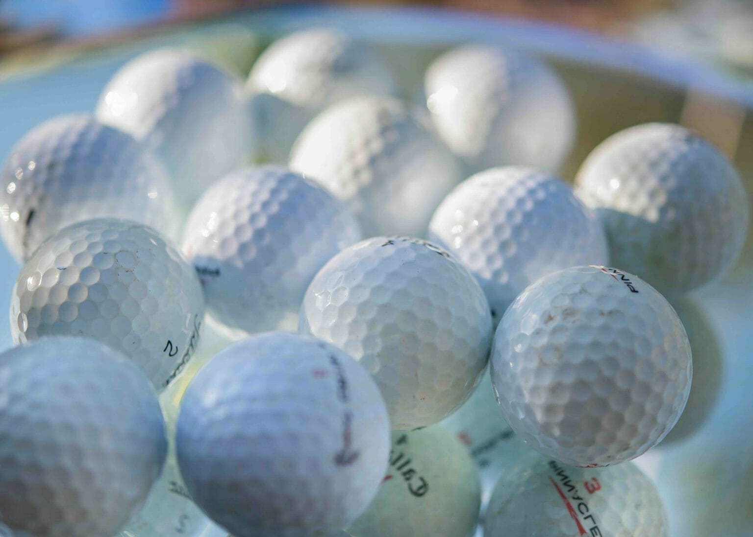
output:
<path id="1" fill-rule="evenodd" d="M 481 517 L 499 476 L 523 457 L 538 457 L 505 421 L 487 373 L 473 395 L 440 422 L 471 452 L 481 478 Z"/>

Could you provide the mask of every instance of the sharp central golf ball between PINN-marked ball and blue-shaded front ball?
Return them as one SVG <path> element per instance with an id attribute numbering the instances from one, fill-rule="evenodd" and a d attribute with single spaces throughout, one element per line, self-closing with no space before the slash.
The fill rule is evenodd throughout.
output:
<path id="1" fill-rule="evenodd" d="M 301 332 L 336 344 L 374 376 L 393 429 L 437 423 L 470 396 L 491 323 L 468 269 L 407 237 L 369 238 L 334 256 L 300 311 Z"/>

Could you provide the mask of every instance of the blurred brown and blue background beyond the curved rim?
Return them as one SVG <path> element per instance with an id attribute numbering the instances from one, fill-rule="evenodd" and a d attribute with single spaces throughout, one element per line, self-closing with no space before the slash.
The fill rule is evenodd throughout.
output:
<path id="1" fill-rule="evenodd" d="M 119 41 L 160 26 L 285 0 L 0 0 L 0 56 L 74 40 Z M 460 8 L 562 23 L 753 73 L 751 0 L 383 0 L 309 2 Z"/>

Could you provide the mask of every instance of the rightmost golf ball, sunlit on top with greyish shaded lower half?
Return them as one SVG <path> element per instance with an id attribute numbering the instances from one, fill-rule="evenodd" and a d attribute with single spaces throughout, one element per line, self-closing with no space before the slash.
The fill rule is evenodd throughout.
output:
<path id="1" fill-rule="evenodd" d="M 612 135 L 576 184 L 604 224 L 611 262 L 665 293 L 712 281 L 745 241 L 748 197 L 737 172 L 684 127 L 648 123 Z"/>

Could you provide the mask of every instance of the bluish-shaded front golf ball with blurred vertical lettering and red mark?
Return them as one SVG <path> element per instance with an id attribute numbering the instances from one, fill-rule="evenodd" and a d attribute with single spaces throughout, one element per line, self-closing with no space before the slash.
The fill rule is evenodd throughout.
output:
<path id="1" fill-rule="evenodd" d="M 267 332 L 223 350 L 194 378 L 176 444 L 191 496 L 236 537 L 326 535 L 379 490 L 389 419 L 350 356 Z"/>

